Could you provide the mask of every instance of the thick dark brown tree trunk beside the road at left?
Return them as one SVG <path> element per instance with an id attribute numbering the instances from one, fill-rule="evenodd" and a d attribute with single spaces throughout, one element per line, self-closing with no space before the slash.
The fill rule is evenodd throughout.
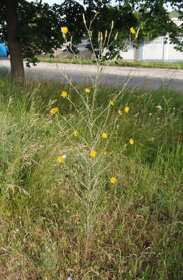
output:
<path id="1" fill-rule="evenodd" d="M 4 1 L 12 81 L 23 82 L 25 75 L 22 56 L 22 42 L 21 39 L 16 36 L 18 28 L 17 4 L 17 0 Z"/>

